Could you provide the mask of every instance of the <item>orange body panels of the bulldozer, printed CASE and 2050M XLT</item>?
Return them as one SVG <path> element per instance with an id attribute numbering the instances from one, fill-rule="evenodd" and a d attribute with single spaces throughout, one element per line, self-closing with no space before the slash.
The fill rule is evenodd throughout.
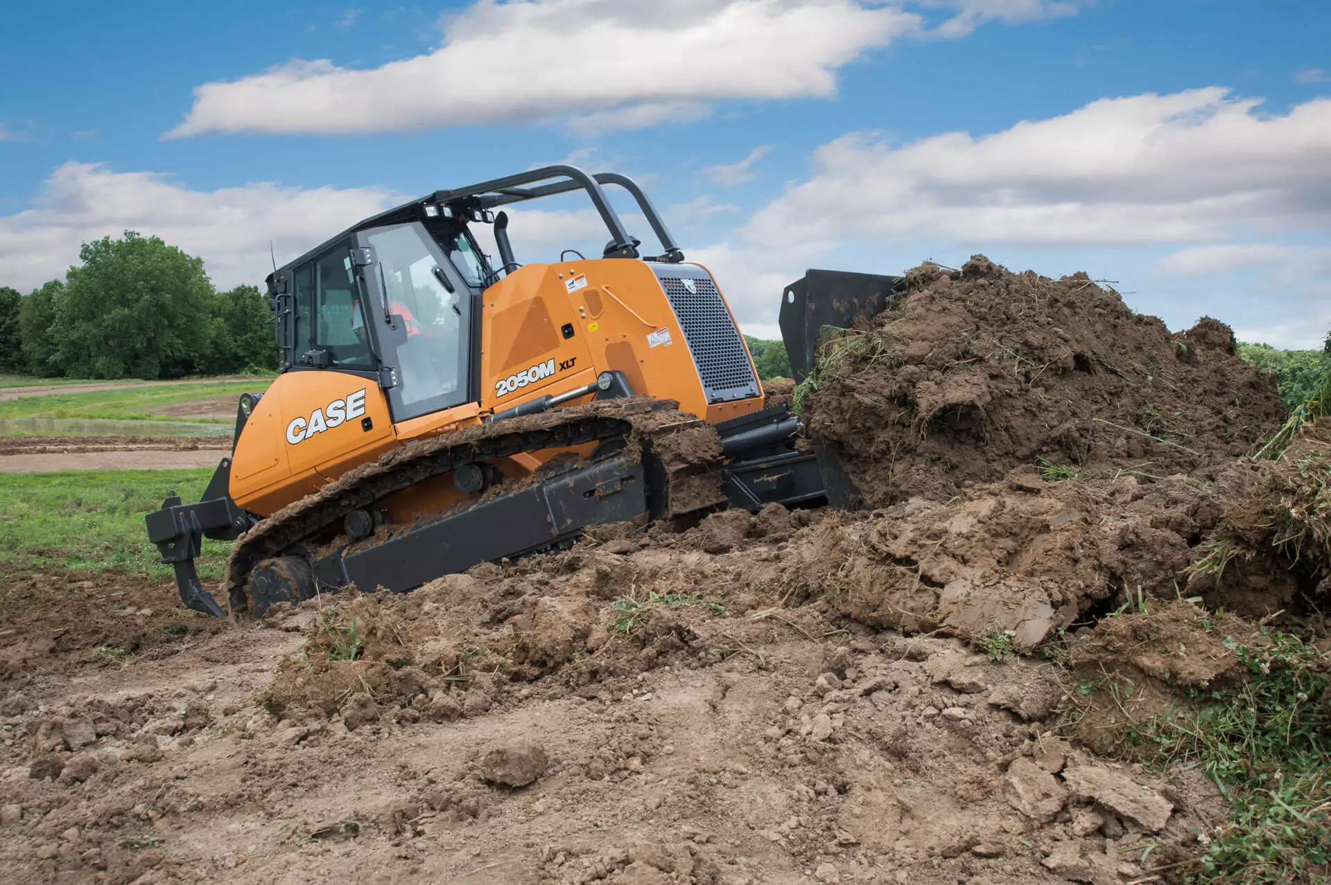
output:
<path id="1" fill-rule="evenodd" d="M 236 502 L 268 516 L 409 440 L 591 384 L 607 369 L 623 372 L 635 393 L 676 400 L 709 423 L 763 408 L 761 393 L 707 403 L 684 332 L 643 262 L 527 264 L 486 290 L 480 310 L 482 345 L 473 360 L 480 372 L 480 403 L 394 425 L 374 379 L 333 369 L 286 372 L 256 405 L 237 442 L 230 486 Z M 668 335 L 648 339 L 660 330 Z M 570 405 L 590 400 L 588 395 Z M 586 454 L 590 448 L 578 450 Z M 520 477 L 558 453 L 516 456 L 495 466 Z M 445 476 L 401 492 L 383 506 L 394 522 L 405 522 L 463 497 Z"/>

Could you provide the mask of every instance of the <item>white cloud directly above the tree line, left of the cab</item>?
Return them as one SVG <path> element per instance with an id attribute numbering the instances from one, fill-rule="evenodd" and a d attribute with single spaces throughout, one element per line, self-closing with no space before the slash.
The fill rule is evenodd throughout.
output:
<path id="1" fill-rule="evenodd" d="M 403 199 L 378 187 L 270 182 L 198 191 L 160 173 L 68 162 L 47 178 L 32 209 L 0 215 L 0 284 L 35 288 L 79 263 L 83 242 L 137 230 L 201 256 L 220 287 L 258 286 L 272 271 L 269 241 L 282 263 Z"/>

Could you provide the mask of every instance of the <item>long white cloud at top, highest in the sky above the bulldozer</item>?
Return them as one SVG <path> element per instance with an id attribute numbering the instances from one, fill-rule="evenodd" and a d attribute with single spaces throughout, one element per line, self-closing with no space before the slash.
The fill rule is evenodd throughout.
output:
<path id="1" fill-rule="evenodd" d="M 293 60 L 198 86 L 168 136 L 655 125 L 728 98 L 832 96 L 840 68 L 920 24 L 872 0 L 480 0 L 429 54 L 373 69 Z"/>

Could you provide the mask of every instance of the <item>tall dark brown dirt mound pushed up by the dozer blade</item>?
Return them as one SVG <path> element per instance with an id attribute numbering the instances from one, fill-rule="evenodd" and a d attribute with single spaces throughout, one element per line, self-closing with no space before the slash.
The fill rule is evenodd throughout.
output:
<path id="1" fill-rule="evenodd" d="M 1086 274 L 982 255 L 906 279 L 868 328 L 824 345 L 801 404 L 869 504 L 946 501 L 1037 462 L 1206 474 L 1283 416 L 1217 320 L 1171 336 Z"/>

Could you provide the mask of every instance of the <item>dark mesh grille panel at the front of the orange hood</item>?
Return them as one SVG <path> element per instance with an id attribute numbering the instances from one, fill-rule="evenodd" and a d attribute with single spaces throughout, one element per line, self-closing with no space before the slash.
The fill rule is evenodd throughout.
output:
<path id="1" fill-rule="evenodd" d="M 707 278 L 689 278 L 693 291 L 676 276 L 662 276 L 662 287 L 684 330 L 684 340 L 703 379 L 707 399 L 757 392 L 744 343 L 716 286 Z"/>

